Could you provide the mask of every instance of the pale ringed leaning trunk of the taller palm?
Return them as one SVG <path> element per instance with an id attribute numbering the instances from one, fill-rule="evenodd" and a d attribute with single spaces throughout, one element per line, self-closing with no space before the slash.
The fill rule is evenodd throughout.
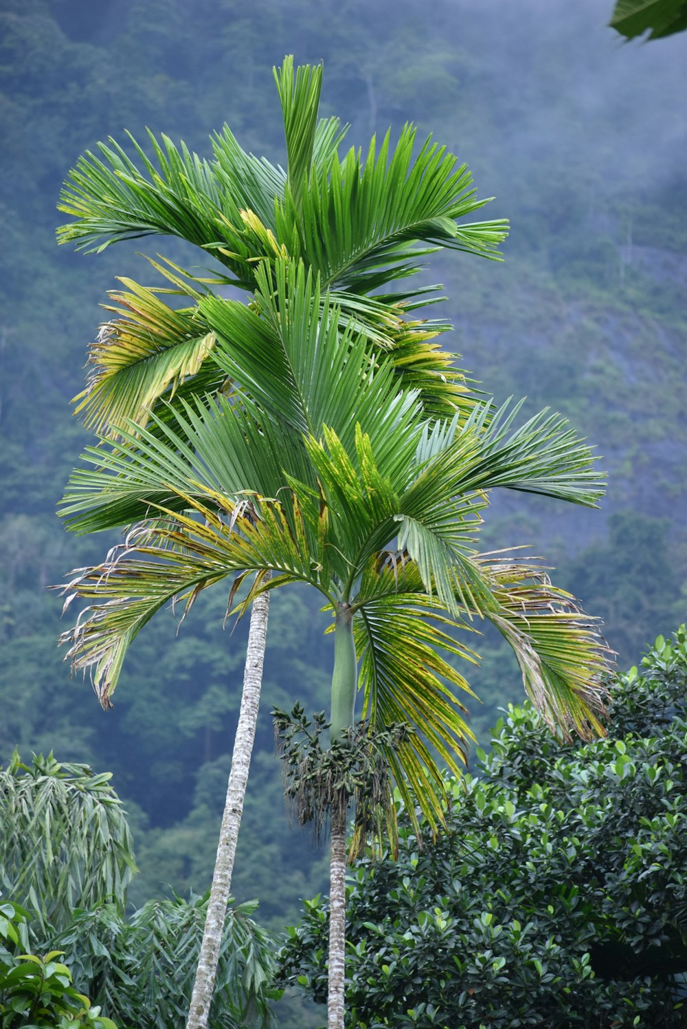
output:
<path id="1" fill-rule="evenodd" d="M 206 1029 L 210 1015 L 210 1004 L 217 975 L 219 949 L 222 942 L 222 930 L 224 929 L 224 920 L 226 918 L 226 906 L 231 889 L 231 874 L 237 853 L 239 827 L 244 811 L 248 769 L 255 740 L 255 726 L 262 685 L 262 664 L 267 635 L 268 611 L 269 593 L 261 593 L 253 601 L 251 609 L 239 724 L 237 725 L 237 735 L 233 741 L 231 771 L 226 789 L 226 801 L 224 803 L 224 814 L 222 815 L 222 825 L 219 832 L 219 844 L 217 845 L 217 857 L 215 858 L 215 871 L 210 889 L 208 914 L 206 916 L 205 929 L 203 930 L 203 942 L 201 944 L 201 953 L 198 955 L 198 964 L 188 1009 L 186 1029 Z"/>

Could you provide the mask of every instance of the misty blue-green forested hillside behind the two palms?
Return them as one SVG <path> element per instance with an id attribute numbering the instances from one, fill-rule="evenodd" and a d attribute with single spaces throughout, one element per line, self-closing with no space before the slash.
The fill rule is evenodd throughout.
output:
<path id="1" fill-rule="evenodd" d="M 602 5 L 603 6 L 603 5 Z M 136 902 L 209 885 L 236 723 L 245 627 L 226 596 L 137 641 L 105 715 L 70 681 L 51 583 L 112 540 L 68 536 L 55 506 L 88 433 L 69 400 L 115 276 L 152 282 L 136 241 L 99 256 L 58 248 L 60 185 L 99 139 L 145 127 L 206 154 L 226 121 L 284 161 L 272 67 L 324 60 L 323 113 L 349 139 L 415 121 L 471 168 L 503 263 L 428 259 L 445 345 L 487 394 L 550 404 L 608 472 L 600 511 L 511 494 L 484 545 L 530 544 L 604 617 L 622 666 L 684 620 L 687 598 L 687 88 L 685 37 L 619 45 L 591 0 L 2 0 L 0 4 L 0 761 L 14 746 L 114 772 L 138 841 Z M 165 252 L 197 263 L 181 247 Z M 436 309 L 435 309 L 436 310 Z M 325 706 L 329 640 L 297 592 L 276 596 L 259 750 L 237 859 L 240 899 L 275 928 L 322 887 L 321 856 L 282 814 L 268 711 Z M 486 744 L 518 675 L 491 637 L 473 676 Z M 275 870 L 279 868 L 279 876 Z"/>

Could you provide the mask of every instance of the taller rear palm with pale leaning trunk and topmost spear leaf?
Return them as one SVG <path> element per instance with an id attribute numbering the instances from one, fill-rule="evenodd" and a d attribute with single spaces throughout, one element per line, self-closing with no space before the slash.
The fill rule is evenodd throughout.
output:
<path id="1" fill-rule="evenodd" d="M 203 279 L 171 261 L 151 261 L 171 285 L 160 290 L 123 279 L 123 290 L 111 293 L 106 308 L 111 317 L 91 347 L 92 374 L 76 398 L 77 412 L 97 432 L 116 437 L 128 428 L 149 426 L 164 438 L 169 425 L 183 435 L 185 423 L 178 416 L 191 397 L 230 393 L 230 378 L 213 359 L 217 305 L 223 301 L 211 287 L 252 291 L 260 259 L 274 262 L 283 255 L 319 275 L 366 338 L 368 349 L 384 348 L 399 382 L 420 391 L 427 414 L 451 417 L 470 411 L 473 398 L 463 376 L 429 342 L 448 326 L 412 320 L 427 290 L 382 290 L 412 275 L 437 246 L 498 257 L 505 222 L 459 223 L 484 202 L 475 200 L 465 166 L 431 140 L 413 158 L 412 127 L 403 130 L 393 151 L 387 136 L 378 154 L 372 140 L 364 162 L 355 151 L 339 162 L 346 129 L 336 118 L 318 118 L 322 69 L 301 67 L 294 73 L 292 59 L 286 58 L 275 77 L 285 126 L 286 173 L 242 150 L 226 127 L 213 139 L 213 161 L 151 135 L 157 167 L 135 140 L 139 165 L 110 140 L 100 144 L 100 155 L 86 153 L 70 172 L 60 209 L 73 220 L 59 229 L 61 242 L 102 250 L 117 240 L 172 235 L 211 254 L 220 269 Z M 370 290 L 377 291 L 373 299 Z M 188 306 L 169 306 L 159 295 L 165 292 L 183 297 Z M 130 432 L 129 445 L 138 448 L 135 432 Z M 206 1010 L 255 733 L 267 604 L 265 592 L 255 598 L 251 613 L 202 958 L 207 971 L 202 975 L 205 999 L 198 1004 Z M 110 676 L 107 687 L 99 690 L 106 707 L 115 684 L 116 675 Z"/>

